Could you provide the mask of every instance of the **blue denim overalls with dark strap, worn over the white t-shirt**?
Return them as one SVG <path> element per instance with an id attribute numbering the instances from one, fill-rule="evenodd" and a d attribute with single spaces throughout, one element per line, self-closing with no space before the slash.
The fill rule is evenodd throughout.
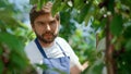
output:
<path id="1" fill-rule="evenodd" d="M 38 50 L 44 57 L 44 64 L 48 67 L 47 70 L 44 70 L 43 74 L 61 74 L 60 72 L 63 72 L 63 74 L 70 74 L 70 59 L 69 57 L 67 57 L 63 49 L 60 47 L 58 42 L 56 44 L 59 46 L 64 57 L 47 58 L 37 38 L 35 39 L 35 44 L 37 45 Z"/>

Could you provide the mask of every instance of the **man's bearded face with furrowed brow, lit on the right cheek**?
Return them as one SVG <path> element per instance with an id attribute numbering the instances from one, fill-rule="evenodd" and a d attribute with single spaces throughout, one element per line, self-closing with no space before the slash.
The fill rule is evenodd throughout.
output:
<path id="1" fill-rule="evenodd" d="M 50 44 L 58 35 L 58 27 L 59 21 L 47 13 L 35 18 L 33 29 L 40 41 Z"/>

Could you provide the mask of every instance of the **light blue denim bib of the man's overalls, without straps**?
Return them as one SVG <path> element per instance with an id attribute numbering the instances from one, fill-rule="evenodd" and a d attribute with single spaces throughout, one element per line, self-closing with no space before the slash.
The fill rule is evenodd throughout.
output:
<path id="1" fill-rule="evenodd" d="M 43 74 L 61 74 L 59 71 L 70 74 L 70 60 L 68 57 L 57 58 L 57 59 L 44 59 L 44 64 L 47 65 L 47 70 L 44 70 Z M 58 71 L 55 71 L 55 70 Z"/>

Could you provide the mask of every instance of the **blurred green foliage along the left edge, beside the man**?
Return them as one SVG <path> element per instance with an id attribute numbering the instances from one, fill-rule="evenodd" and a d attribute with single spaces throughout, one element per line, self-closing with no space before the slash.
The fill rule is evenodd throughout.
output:
<path id="1" fill-rule="evenodd" d="M 33 69 L 24 53 L 31 32 L 14 15 L 15 8 L 8 0 L 0 0 L 0 74 L 28 74 Z M 27 70 L 27 71 L 26 71 Z"/>

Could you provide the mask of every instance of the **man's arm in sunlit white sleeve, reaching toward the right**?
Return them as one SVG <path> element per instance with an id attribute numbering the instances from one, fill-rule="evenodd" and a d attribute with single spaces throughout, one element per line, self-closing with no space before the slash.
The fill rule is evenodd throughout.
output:
<path id="1" fill-rule="evenodd" d="M 67 54 L 69 54 L 69 57 L 70 57 L 70 72 L 71 72 L 71 74 L 81 74 L 81 72 L 87 67 L 87 62 L 85 62 L 82 65 L 79 61 L 78 55 L 74 53 L 74 51 L 70 47 L 70 45 L 64 39 L 59 40 L 59 42 L 61 42 L 61 45 L 66 49 L 64 51 L 67 51 Z"/>

